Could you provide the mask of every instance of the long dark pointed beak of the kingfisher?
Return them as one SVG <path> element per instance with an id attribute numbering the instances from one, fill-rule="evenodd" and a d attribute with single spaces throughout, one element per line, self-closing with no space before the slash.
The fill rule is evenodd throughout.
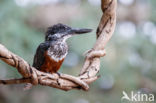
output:
<path id="1" fill-rule="evenodd" d="M 69 34 L 71 34 L 71 35 L 75 35 L 75 34 L 84 34 L 84 33 L 89 33 L 89 32 L 91 32 L 92 31 L 92 29 L 71 29 L 71 30 L 69 30 Z"/>

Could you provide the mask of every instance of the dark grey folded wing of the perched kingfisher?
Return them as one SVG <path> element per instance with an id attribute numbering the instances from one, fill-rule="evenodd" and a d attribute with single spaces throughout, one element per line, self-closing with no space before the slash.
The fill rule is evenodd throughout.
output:
<path id="1" fill-rule="evenodd" d="M 49 48 L 49 43 L 47 42 L 41 43 L 38 46 L 36 50 L 36 54 L 34 56 L 33 67 L 40 70 L 40 67 L 43 65 L 45 60 L 44 53 L 48 48 Z"/>

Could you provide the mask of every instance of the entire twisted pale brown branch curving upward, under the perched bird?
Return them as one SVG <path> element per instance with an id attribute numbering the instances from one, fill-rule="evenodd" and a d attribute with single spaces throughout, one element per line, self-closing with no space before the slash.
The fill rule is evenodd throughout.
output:
<path id="1" fill-rule="evenodd" d="M 88 90 L 88 84 L 99 78 L 100 57 L 105 56 L 105 45 L 111 38 L 116 24 L 116 0 L 102 0 L 103 16 L 97 29 L 97 41 L 86 54 L 85 63 L 78 77 L 67 74 L 49 74 L 31 67 L 24 59 L 13 54 L 0 44 L 0 59 L 15 67 L 23 76 L 20 79 L 0 80 L 0 84 L 31 83 L 44 85 L 62 90 Z"/>

